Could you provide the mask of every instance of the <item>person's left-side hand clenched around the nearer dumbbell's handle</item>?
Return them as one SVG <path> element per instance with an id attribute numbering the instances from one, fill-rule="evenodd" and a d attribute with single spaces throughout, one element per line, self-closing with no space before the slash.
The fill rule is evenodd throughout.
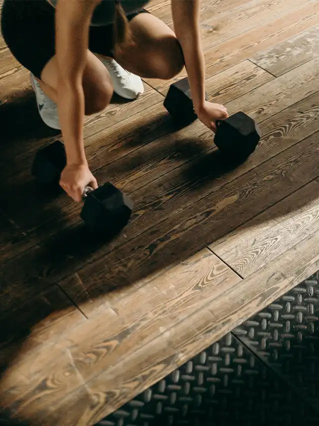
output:
<path id="1" fill-rule="evenodd" d="M 61 174 L 60 185 L 77 202 L 82 200 L 85 186 L 91 186 L 93 189 L 98 187 L 87 164 L 67 164 Z"/>

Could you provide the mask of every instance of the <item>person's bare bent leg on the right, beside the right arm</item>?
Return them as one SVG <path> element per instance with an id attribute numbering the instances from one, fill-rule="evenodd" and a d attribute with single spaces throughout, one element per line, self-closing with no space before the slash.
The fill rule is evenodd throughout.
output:
<path id="1" fill-rule="evenodd" d="M 170 79 L 184 67 L 174 32 L 151 13 L 139 13 L 130 22 L 135 46 L 114 51 L 116 61 L 144 78 Z"/>

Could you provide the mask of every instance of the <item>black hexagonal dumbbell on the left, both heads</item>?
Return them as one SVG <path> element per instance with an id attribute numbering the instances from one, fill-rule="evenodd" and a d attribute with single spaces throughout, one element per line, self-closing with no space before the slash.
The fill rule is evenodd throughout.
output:
<path id="1" fill-rule="evenodd" d="M 42 185 L 58 185 L 66 165 L 64 145 L 59 140 L 40 149 L 32 165 L 32 174 Z M 85 187 L 81 219 L 94 232 L 117 232 L 127 225 L 133 210 L 130 197 L 107 182 L 93 190 Z"/>

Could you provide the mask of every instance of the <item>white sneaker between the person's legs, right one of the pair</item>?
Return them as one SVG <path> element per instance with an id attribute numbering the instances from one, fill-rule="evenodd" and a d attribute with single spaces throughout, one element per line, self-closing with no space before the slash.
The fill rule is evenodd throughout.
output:
<path id="1" fill-rule="evenodd" d="M 141 77 L 127 71 L 112 58 L 98 57 L 110 73 L 115 93 L 125 99 L 136 99 L 144 93 Z"/>

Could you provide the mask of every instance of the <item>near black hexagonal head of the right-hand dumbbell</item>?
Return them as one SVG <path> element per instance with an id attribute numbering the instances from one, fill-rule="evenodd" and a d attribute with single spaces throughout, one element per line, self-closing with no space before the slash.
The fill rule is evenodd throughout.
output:
<path id="1" fill-rule="evenodd" d="M 216 122 L 214 143 L 228 158 L 245 159 L 260 140 L 261 131 L 255 121 L 242 111 Z"/>

